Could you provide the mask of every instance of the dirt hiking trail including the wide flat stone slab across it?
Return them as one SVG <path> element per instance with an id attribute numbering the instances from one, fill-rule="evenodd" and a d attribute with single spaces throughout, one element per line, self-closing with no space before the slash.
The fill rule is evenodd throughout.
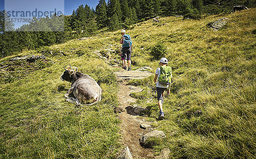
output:
<path id="1" fill-rule="evenodd" d="M 134 159 L 164 159 L 166 156 L 154 156 L 151 148 L 144 148 L 140 145 L 140 137 L 152 131 L 151 128 L 142 129 L 140 128 L 140 125 L 150 125 L 151 123 L 145 121 L 143 118 L 138 118 L 137 113 L 131 112 L 128 109 L 128 106 L 131 106 L 131 103 L 136 102 L 136 99 L 132 98 L 130 93 L 142 91 L 142 89 L 139 87 L 128 85 L 128 80 L 143 79 L 152 75 L 152 73 L 149 71 L 140 70 L 126 71 L 122 69 L 119 72 L 115 72 L 116 78 L 119 82 L 118 101 L 120 104 L 120 109 L 122 110 L 121 113 L 119 113 L 119 118 L 121 121 L 120 133 L 122 135 L 122 143 L 129 147 Z"/>

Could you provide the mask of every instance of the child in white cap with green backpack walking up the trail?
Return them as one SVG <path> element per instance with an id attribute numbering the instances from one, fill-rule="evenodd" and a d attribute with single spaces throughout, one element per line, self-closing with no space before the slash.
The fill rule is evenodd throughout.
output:
<path id="1" fill-rule="evenodd" d="M 157 84 L 157 104 L 160 110 L 159 119 L 163 119 L 163 92 L 171 84 L 172 67 L 167 66 L 167 58 L 161 58 L 159 64 L 160 67 L 156 70 L 154 82 Z"/>

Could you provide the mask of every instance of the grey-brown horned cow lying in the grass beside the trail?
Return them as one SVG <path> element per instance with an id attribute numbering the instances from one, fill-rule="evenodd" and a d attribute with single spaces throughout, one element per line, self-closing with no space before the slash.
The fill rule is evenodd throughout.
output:
<path id="1" fill-rule="evenodd" d="M 76 71 L 77 68 L 74 70 L 70 66 L 61 76 L 62 81 L 72 83 L 71 88 L 64 95 L 66 101 L 77 105 L 93 105 L 101 101 L 102 89 L 97 82 L 89 75 Z"/>

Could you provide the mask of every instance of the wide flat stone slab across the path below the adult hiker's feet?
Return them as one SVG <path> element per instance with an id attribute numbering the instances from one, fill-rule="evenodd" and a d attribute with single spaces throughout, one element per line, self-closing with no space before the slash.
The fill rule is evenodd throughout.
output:
<path id="1" fill-rule="evenodd" d="M 153 75 L 153 73 L 149 71 L 137 71 L 137 70 L 135 71 L 122 70 L 114 73 L 116 75 L 116 78 L 119 78 L 119 79 L 143 79 L 150 75 Z"/>

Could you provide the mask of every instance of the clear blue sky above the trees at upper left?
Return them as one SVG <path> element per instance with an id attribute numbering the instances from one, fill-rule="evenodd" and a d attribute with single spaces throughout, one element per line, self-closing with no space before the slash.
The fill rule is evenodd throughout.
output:
<path id="1" fill-rule="evenodd" d="M 46 17 L 56 12 L 71 15 L 80 5 L 96 8 L 98 0 L 0 0 L 0 9 L 5 9 L 15 28 L 28 24 L 33 17 Z"/>

